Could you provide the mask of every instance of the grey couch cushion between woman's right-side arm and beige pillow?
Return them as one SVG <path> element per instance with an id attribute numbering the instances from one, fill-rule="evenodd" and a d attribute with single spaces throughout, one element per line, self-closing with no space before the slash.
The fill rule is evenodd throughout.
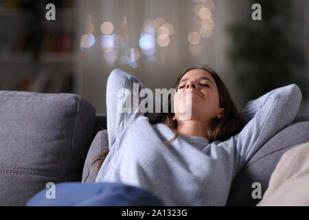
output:
<path id="1" fill-rule="evenodd" d="M 309 140 L 309 122 L 297 122 L 287 126 L 271 138 L 251 157 L 246 166 L 234 179 L 227 206 L 255 206 L 261 199 L 253 199 L 252 192 L 261 184 L 262 195 L 282 155 L 290 148 Z"/>

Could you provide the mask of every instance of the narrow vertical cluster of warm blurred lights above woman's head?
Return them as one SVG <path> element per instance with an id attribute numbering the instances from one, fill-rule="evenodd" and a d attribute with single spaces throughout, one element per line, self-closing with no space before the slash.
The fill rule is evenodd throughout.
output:
<path id="1" fill-rule="evenodd" d="M 188 34 L 189 51 L 192 54 L 199 54 L 201 49 L 201 40 L 209 38 L 214 30 L 214 16 L 211 10 L 214 10 L 214 1 L 212 0 L 192 0 L 194 31 Z"/>

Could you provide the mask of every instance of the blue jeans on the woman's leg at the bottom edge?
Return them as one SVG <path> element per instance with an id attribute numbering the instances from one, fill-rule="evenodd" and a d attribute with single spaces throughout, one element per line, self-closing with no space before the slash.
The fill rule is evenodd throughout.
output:
<path id="1" fill-rule="evenodd" d="M 54 192 L 49 193 L 51 190 Z M 152 193 L 125 184 L 67 182 L 41 190 L 26 206 L 163 206 L 163 203 Z"/>

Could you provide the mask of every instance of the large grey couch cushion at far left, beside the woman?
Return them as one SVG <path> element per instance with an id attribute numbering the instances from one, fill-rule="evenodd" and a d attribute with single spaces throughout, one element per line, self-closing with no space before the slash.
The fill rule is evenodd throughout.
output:
<path id="1" fill-rule="evenodd" d="M 0 206 L 23 206 L 48 182 L 81 181 L 94 107 L 75 94 L 0 91 Z"/>

